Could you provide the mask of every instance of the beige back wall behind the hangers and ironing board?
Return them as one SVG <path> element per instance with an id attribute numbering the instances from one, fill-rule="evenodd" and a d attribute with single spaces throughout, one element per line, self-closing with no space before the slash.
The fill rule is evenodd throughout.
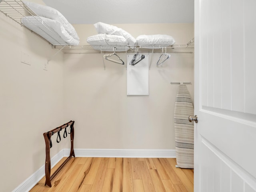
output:
<path id="1" fill-rule="evenodd" d="M 115 24 L 137 37 L 169 34 L 176 44 L 193 37 L 193 24 Z M 74 25 L 86 44 L 96 34 L 93 25 Z M 126 54 L 119 54 L 126 60 Z M 174 102 L 178 85 L 193 83 L 193 54 L 171 54 L 156 67 L 160 54 L 150 54 L 149 96 L 126 95 L 126 68 L 105 61 L 101 54 L 64 55 L 65 120 L 75 120 L 75 148 L 175 149 Z M 193 84 L 188 85 L 193 98 Z"/>

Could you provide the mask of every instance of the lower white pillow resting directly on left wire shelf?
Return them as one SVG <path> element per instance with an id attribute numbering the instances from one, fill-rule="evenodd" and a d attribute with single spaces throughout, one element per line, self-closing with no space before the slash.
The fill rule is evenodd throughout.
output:
<path id="1" fill-rule="evenodd" d="M 41 16 L 26 16 L 21 19 L 21 22 L 53 45 L 79 45 L 79 40 L 72 37 L 58 20 Z M 61 39 L 57 42 L 56 39 L 59 38 Z"/>

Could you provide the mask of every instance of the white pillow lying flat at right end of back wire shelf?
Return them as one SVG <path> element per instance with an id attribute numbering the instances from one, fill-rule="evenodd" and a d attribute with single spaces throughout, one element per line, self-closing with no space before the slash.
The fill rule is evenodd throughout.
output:
<path id="1" fill-rule="evenodd" d="M 140 35 L 136 38 L 136 45 L 172 45 L 175 40 L 170 35 Z"/>

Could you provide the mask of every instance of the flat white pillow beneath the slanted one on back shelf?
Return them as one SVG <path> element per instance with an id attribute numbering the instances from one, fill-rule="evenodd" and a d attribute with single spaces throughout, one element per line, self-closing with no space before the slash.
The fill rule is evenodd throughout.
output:
<path id="1" fill-rule="evenodd" d="M 123 36 L 97 34 L 87 38 L 90 45 L 127 45 L 127 40 Z"/>

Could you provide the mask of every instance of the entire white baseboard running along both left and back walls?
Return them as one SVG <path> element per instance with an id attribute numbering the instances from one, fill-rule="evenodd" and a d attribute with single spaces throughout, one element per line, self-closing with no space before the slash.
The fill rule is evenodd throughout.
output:
<path id="1" fill-rule="evenodd" d="M 76 157 L 126 157 L 126 158 L 176 158 L 176 150 L 132 150 L 132 149 L 74 149 Z M 54 167 L 63 157 L 68 157 L 70 149 L 62 149 L 51 158 Z M 28 192 L 45 175 L 44 165 L 27 178 L 12 192 Z"/>

